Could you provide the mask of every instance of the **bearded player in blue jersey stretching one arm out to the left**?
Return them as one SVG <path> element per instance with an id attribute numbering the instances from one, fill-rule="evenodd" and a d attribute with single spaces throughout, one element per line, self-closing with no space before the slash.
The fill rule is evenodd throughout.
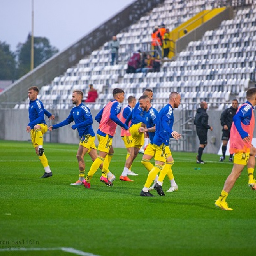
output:
<path id="1" fill-rule="evenodd" d="M 49 131 L 58 129 L 62 126 L 66 126 L 73 121 L 75 124 L 72 125 L 71 129 L 78 131 L 80 136 L 80 144 L 77 150 L 76 158 L 79 166 L 79 179 L 75 183 L 70 185 L 82 185 L 82 180 L 85 177 L 85 162 L 84 155 L 88 152 L 91 156 L 92 161 L 97 158 L 97 150 L 94 144 L 95 133 L 92 129 L 92 115 L 90 109 L 87 108 L 83 103 L 83 92 L 80 90 L 74 90 L 72 93 L 72 103 L 75 105 L 70 111 L 69 116 L 59 124 L 54 124 L 49 127 Z M 104 182 L 104 178 L 100 179 Z"/>

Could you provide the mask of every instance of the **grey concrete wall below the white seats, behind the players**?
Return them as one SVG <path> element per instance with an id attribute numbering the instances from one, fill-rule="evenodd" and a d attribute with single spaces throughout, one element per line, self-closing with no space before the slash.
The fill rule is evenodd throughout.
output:
<path id="1" fill-rule="evenodd" d="M 51 110 L 49 110 L 51 112 Z M 55 110 L 56 111 L 56 110 Z M 46 117 L 45 120 L 47 125 L 53 123 L 58 123 L 69 115 L 70 110 L 58 110 L 52 112 L 56 116 L 55 121 L 48 121 Z M 98 111 L 92 110 L 93 120 Z M 220 125 L 220 115 L 221 111 L 217 110 L 208 110 L 209 115 L 209 125 L 213 126 L 213 131 L 209 130 L 208 132 L 208 145 L 205 148 L 205 153 L 217 153 L 221 145 L 221 125 Z M 179 111 L 174 111 L 175 120 L 179 119 Z M 28 110 L 27 109 L 0 109 L 0 139 L 2 140 L 20 140 L 20 141 L 29 141 L 30 134 L 26 132 L 26 126 L 29 122 L 28 119 Z M 52 132 L 47 132 L 44 135 L 45 142 L 56 142 L 56 143 L 67 143 L 67 144 L 78 144 L 79 136 L 78 132 L 71 129 L 69 124 L 65 127 L 61 127 Z M 96 133 L 98 130 L 98 123 L 94 120 L 93 130 Z M 195 128 L 195 126 L 194 126 Z M 174 130 L 180 132 L 180 127 L 178 124 L 174 125 Z M 255 131 L 254 131 L 255 133 Z M 255 136 L 254 136 L 255 137 Z M 192 149 L 194 152 L 198 150 L 199 139 L 195 138 L 195 143 L 193 142 Z M 95 143 L 98 143 L 96 139 Z M 124 148 L 123 140 L 120 137 L 120 127 L 117 126 L 116 136 L 113 139 L 113 146 L 116 148 Z"/>

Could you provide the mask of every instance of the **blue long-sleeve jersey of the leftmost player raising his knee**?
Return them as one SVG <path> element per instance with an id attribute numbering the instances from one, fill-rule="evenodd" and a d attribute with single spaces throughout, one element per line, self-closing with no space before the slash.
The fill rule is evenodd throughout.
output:
<path id="1" fill-rule="evenodd" d="M 31 129 L 34 129 L 34 126 L 36 124 L 46 124 L 44 119 L 44 114 L 48 117 L 52 115 L 50 112 L 44 109 L 44 105 L 42 101 L 38 99 L 29 101 L 28 113 L 29 113 L 28 126 L 30 126 Z"/>

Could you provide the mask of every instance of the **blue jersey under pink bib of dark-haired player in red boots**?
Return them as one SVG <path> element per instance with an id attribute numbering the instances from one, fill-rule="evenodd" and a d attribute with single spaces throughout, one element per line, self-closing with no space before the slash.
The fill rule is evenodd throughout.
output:
<path id="1" fill-rule="evenodd" d="M 115 103 L 113 103 L 113 105 L 111 106 L 111 109 L 110 109 L 110 116 L 109 118 L 114 121 L 116 124 L 118 124 L 119 126 L 123 127 L 124 129 L 128 129 L 128 126 L 124 123 L 122 123 L 120 121 L 120 119 L 117 117 L 117 115 L 121 112 L 121 104 L 117 101 L 117 100 L 112 100 L 111 102 L 113 101 L 116 101 Z M 105 108 L 105 107 L 104 107 Z M 100 123 L 101 121 L 101 118 L 102 118 L 102 114 L 103 114 L 103 111 L 104 111 L 104 108 L 102 108 L 100 110 L 100 112 L 95 116 L 95 120 Z M 97 134 L 105 137 L 106 136 L 106 133 L 104 132 L 101 132 L 100 129 L 98 129 L 97 131 Z M 113 136 L 111 135 L 108 135 L 110 138 L 113 138 Z"/>

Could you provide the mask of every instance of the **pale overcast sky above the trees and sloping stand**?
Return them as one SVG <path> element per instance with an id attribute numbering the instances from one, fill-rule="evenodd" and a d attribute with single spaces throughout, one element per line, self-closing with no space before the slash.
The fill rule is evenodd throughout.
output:
<path id="1" fill-rule="evenodd" d="M 34 36 L 47 37 L 60 51 L 134 0 L 34 0 Z M 32 24 L 32 0 L 1 0 L 0 41 L 16 50 Z"/>

